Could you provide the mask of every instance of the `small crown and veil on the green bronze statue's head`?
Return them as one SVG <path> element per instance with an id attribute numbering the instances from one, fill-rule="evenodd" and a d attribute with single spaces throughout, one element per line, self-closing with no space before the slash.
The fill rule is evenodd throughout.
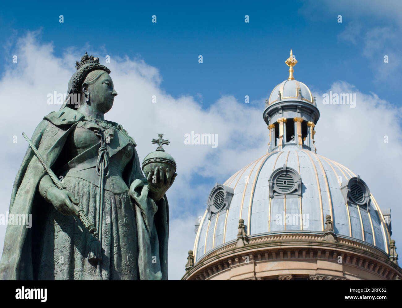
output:
<path id="1" fill-rule="evenodd" d="M 83 83 L 93 83 L 96 79 L 100 77 L 103 73 L 110 73 L 110 69 L 108 69 L 105 65 L 99 63 L 99 58 L 94 57 L 92 55 L 88 56 L 85 52 L 85 55 L 81 57 L 81 61 L 76 61 L 77 71 L 72 75 L 70 81 L 68 81 L 68 89 L 67 89 L 67 100 L 62 108 L 77 107 L 71 99 L 75 95 L 81 95 L 82 93 L 82 85 Z M 96 72 L 95 72 L 96 71 Z"/>

